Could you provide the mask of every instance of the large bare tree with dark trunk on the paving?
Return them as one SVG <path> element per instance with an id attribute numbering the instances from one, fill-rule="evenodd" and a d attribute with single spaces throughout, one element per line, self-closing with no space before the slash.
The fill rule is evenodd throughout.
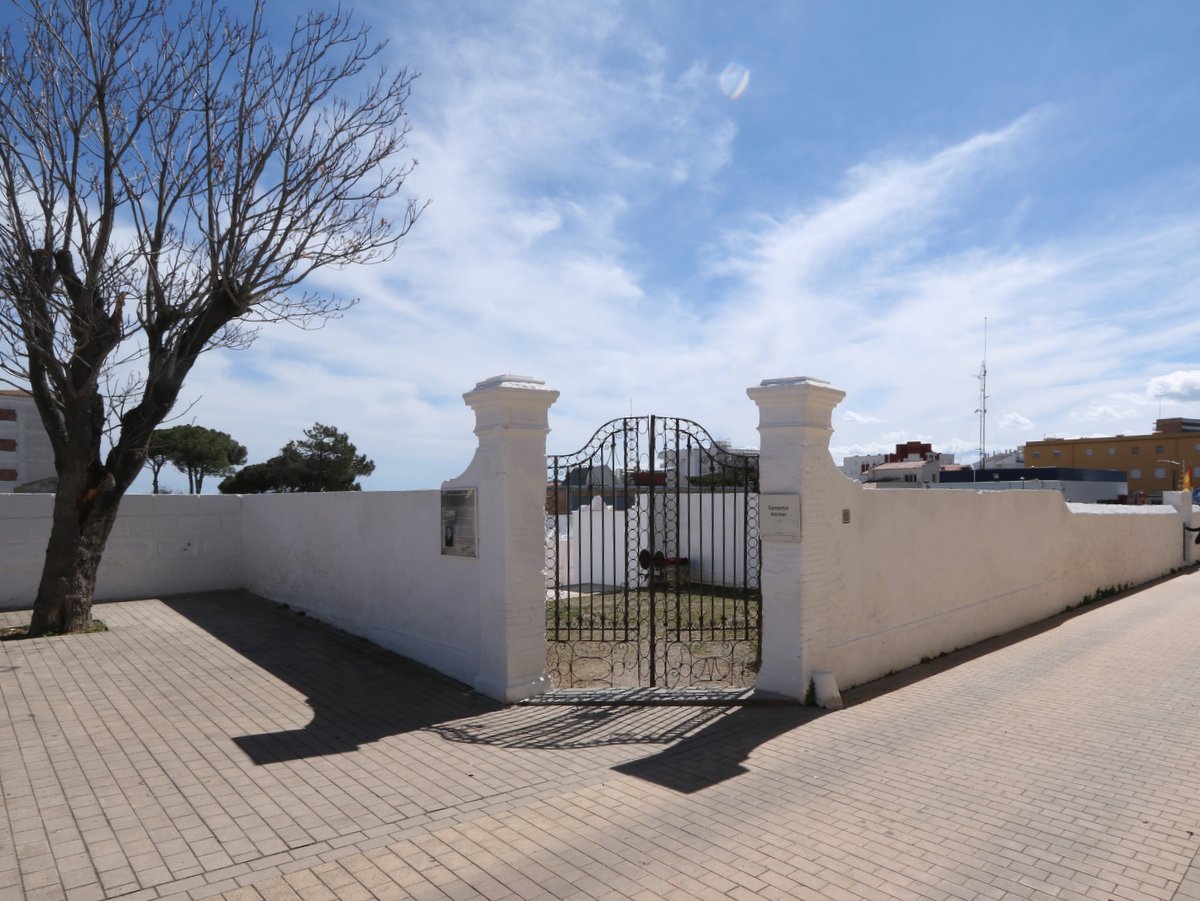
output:
<path id="1" fill-rule="evenodd" d="M 20 6 L 0 34 L 0 380 L 32 392 L 59 476 L 38 635 L 90 625 L 197 356 L 344 311 L 301 282 L 389 257 L 421 206 L 400 197 L 413 76 L 341 11 L 278 35 L 264 0 Z"/>

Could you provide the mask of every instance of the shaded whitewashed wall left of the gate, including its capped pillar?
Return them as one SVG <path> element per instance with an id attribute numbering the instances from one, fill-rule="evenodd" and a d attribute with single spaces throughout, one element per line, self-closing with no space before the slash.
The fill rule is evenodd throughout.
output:
<path id="1" fill-rule="evenodd" d="M 499 376 L 463 398 L 479 449 L 476 557 L 442 555 L 440 492 L 128 495 L 96 597 L 247 588 L 502 701 L 545 690 L 547 412 L 557 391 Z M 53 497 L 0 494 L 0 606 L 37 593 Z"/>

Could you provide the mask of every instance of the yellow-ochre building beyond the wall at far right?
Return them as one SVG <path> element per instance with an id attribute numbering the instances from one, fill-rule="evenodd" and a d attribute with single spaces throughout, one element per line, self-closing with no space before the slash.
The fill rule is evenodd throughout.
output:
<path id="1" fill-rule="evenodd" d="M 1025 464 L 1120 469 L 1128 476 L 1130 499 L 1162 498 L 1183 487 L 1183 473 L 1200 475 L 1200 420 L 1160 419 L 1153 434 L 1111 438 L 1043 438 L 1025 445 Z"/>

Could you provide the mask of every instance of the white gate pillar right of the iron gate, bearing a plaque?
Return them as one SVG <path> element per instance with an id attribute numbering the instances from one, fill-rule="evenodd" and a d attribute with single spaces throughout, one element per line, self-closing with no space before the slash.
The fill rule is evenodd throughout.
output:
<path id="1" fill-rule="evenodd" d="M 835 593 L 840 559 L 834 522 L 841 516 L 829 456 L 833 410 L 846 396 L 820 379 L 766 379 L 746 390 L 758 404 L 760 522 L 764 497 L 799 498 L 798 539 L 762 536 L 762 668 L 760 691 L 804 698 Z"/>

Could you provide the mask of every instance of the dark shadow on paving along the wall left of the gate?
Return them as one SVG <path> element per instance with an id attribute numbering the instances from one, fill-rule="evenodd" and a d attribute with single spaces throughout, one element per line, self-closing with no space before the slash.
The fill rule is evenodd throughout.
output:
<path id="1" fill-rule="evenodd" d="M 312 720 L 302 728 L 234 737 L 258 764 L 344 753 L 503 709 L 467 685 L 250 591 L 162 602 L 306 697 Z"/>

